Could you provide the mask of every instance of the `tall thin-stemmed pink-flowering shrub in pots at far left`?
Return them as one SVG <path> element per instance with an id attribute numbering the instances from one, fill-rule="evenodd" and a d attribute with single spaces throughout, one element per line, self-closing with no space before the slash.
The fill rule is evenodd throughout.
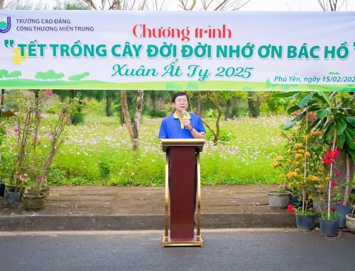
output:
<path id="1" fill-rule="evenodd" d="M 13 123 L 13 170 L 11 183 L 16 189 L 26 186 L 28 191 L 39 195 L 46 184 L 47 172 L 64 138 L 68 117 L 78 108 L 78 99 L 70 103 L 58 103 L 55 120 L 43 125 L 45 101 L 53 96 L 52 90 L 23 93 L 13 91 L 7 100 L 16 112 Z"/>

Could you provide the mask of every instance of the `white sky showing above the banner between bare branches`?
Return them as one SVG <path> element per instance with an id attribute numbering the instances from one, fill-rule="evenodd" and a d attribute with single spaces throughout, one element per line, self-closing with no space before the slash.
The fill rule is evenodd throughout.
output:
<path id="1" fill-rule="evenodd" d="M 5 0 L 5 2 L 8 0 Z M 55 0 L 33 0 L 33 2 L 46 3 L 49 6 L 55 5 Z M 96 0 L 97 2 L 101 2 Z M 148 0 L 147 2 L 149 2 Z M 160 2 L 160 0 L 157 0 Z M 165 0 L 166 2 L 167 0 Z M 342 3 L 344 0 L 338 0 Z M 181 10 L 178 1 L 168 1 L 168 10 Z M 191 3 L 191 1 L 189 1 Z M 197 3 L 200 0 L 197 0 Z M 339 6 L 339 4 L 338 4 Z M 355 0 L 347 0 L 342 6 L 341 11 L 355 11 Z M 251 0 L 241 11 L 322 11 L 317 0 Z"/>

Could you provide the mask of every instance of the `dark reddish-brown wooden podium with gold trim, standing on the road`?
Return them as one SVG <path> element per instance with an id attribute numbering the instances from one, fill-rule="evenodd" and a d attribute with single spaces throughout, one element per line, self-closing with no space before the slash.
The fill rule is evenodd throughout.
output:
<path id="1" fill-rule="evenodd" d="M 200 151 L 204 139 L 162 139 L 165 158 L 165 234 L 161 246 L 204 246 L 201 238 Z M 169 181 L 170 178 L 170 181 Z M 197 178 L 197 234 L 194 234 Z M 169 236 L 170 194 L 170 236 Z"/>

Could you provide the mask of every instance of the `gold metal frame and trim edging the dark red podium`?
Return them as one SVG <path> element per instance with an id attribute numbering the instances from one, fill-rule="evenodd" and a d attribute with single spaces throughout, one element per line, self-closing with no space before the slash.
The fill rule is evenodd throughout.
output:
<path id="1" fill-rule="evenodd" d="M 168 146 L 197 145 L 202 150 L 204 139 L 162 139 L 163 150 Z M 169 237 L 169 158 L 165 156 L 165 234 L 162 234 L 161 246 L 204 246 L 201 238 L 201 167 L 200 151 L 197 151 L 197 235 L 189 241 L 172 241 Z"/>

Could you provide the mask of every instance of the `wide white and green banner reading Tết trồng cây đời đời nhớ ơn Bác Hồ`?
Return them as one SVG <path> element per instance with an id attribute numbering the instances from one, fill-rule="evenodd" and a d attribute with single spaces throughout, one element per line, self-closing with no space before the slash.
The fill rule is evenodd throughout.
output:
<path id="1" fill-rule="evenodd" d="M 355 13 L 0 11 L 0 88 L 355 91 Z"/>

